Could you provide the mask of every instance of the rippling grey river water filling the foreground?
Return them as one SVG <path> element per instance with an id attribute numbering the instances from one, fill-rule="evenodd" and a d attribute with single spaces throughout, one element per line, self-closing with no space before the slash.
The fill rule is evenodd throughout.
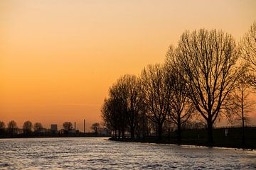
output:
<path id="1" fill-rule="evenodd" d="M 256 151 L 107 138 L 1 139 L 0 169 L 256 169 Z"/>

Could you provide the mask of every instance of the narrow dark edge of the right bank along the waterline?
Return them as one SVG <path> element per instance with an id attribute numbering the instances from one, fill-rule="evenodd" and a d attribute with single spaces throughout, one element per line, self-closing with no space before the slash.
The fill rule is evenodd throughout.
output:
<path id="1" fill-rule="evenodd" d="M 219 148 L 230 148 L 230 149 L 244 149 L 244 150 L 256 150 L 256 148 L 242 148 L 242 147 L 228 147 L 222 145 L 208 145 L 207 142 L 202 143 L 194 143 L 194 142 L 174 142 L 174 141 L 166 141 L 166 140 L 143 140 L 143 139 L 115 139 L 114 137 L 110 137 L 108 140 L 117 141 L 117 142 L 139 142 L 139 143 L 154 143 L 154 144 L 170 144 L 170 145 L 188 145 L 188 146 L 196 146 L 196 147 L 219 147 Z"/>

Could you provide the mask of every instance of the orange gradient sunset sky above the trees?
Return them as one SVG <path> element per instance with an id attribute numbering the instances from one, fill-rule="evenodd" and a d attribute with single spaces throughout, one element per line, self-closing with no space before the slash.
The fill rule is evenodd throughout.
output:
<path id="1" fill-rule="evenodd" d="M 0 120 L 76 121 L 82 130 L 84 118 L 87 127 L 101 121 L 118 77 L 164 62 L 184 30 L 217 28 L 240 40 L 255 9 L 255 0 L 1 0 Z"/>

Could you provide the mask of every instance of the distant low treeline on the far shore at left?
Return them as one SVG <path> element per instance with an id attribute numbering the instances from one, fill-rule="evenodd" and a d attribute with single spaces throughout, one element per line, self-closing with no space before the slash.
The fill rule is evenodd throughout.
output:
<path id="1" fill-rule="evenodd" d="M 93 132 L 80 132 L 73 128 L 70 122 L 63 123 L 62 129 L 58 130 L 57 125 L 51 129 L 43 128 L 41 123 L 32 124 L 27 120 L 23 123 L 22 128 L 18 128 L 16 121 L 11 120 L 7 127 L 3 121 L 0 121 L 0 137 L 97 137 L 110 136 L 110 130 L 93 123 L 91 126 Z"/>

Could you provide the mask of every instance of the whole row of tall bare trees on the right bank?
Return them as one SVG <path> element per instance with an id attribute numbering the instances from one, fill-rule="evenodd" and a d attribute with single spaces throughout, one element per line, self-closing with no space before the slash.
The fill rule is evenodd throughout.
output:
<path id="1" fill-rule="evenodd" d="M 237 43 L 222 30 L 186 30 L 170 46 L 164 64 L 150 64 L 139 77 L 126 74 L 109 89 L 101 109 L 113 137 L 146 137 L 176 129 L 207 128 L 213 144 L 218 120 L 244 126 L 256 88 L 256 23 Z"/>

